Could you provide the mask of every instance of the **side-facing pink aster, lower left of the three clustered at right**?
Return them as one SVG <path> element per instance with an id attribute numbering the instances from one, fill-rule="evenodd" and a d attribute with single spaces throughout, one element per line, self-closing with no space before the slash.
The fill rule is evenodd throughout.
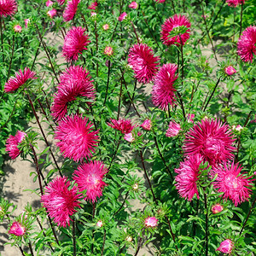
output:
<path id="1" fill-rule="evenodd" d="M 177 173 L 175 186 L 178 194 L 189 201 L 192 200 L 194 195 L 199 199 L 196 182 L 201 174 L 199 166 L 202 161 L 203 158 L 200 154 L 192 154 L 189 159 L 180 163 L 178 169 L 175 169 Z"/>

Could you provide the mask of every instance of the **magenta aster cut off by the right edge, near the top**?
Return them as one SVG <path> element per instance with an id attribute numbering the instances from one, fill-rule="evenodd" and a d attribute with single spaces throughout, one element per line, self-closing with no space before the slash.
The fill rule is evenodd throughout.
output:
<path id="1" fill-rule="evenodd" d="M 240 55 L 241 61 L 253 62 L 253 55 L 256 55 L 255 44 L 256 26 L 248 26 L 237 42 L 237 54 Z"/>

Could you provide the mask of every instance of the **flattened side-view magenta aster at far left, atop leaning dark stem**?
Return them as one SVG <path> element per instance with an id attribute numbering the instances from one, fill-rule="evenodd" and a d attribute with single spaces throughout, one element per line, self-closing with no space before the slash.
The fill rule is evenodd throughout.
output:
<path id="1" fill-rule="evenodd" d="M 18 90 L 21 85 L 25 84 L 27 79 L 37 79 L 35 78 L 36 73 L 32 72 L 28 67 L 25 67 L 24 72 L 16 72 L 15 77 L 11 77 L 8 82 L 4 85 L 5 92 L 14 92 Z"/>

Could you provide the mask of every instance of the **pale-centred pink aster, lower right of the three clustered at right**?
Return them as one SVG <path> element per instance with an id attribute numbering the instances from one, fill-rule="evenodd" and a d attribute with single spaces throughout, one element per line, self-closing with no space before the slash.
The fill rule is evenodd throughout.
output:
<path id="1" fill-rule="evenodd" d="M 239 163 L 230 165 L 224 162 L 224 166 L 214 166 L 211 176 L 218 177 L 213 182 L 213 187 L 218 189 L 218 193 L 223 192 L 224 199 L 230 199 L 237 207 L 243 201 L 247 201 L 252 194 L 253 181 L 252 177 L 246 177 L 246 173 L 240 173 L 242 167 Z"/>

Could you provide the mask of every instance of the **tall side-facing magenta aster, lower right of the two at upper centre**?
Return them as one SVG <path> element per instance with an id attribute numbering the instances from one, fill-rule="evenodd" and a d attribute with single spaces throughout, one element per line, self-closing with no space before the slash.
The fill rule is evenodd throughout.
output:
<path id="1" fill-rule="evenodd" d="M 160 71 L 154 77 L 154 85 L 152 89 L 152 102 L 154 106 L 159 107 L 162 110 L 167 110 L 168 106 L 175 105 L 176 89 L 173 84 L 177 79 L 175 72 L 177 71 L 177 65 L 167 63 L 163 67 L 160 67 Z"/>

